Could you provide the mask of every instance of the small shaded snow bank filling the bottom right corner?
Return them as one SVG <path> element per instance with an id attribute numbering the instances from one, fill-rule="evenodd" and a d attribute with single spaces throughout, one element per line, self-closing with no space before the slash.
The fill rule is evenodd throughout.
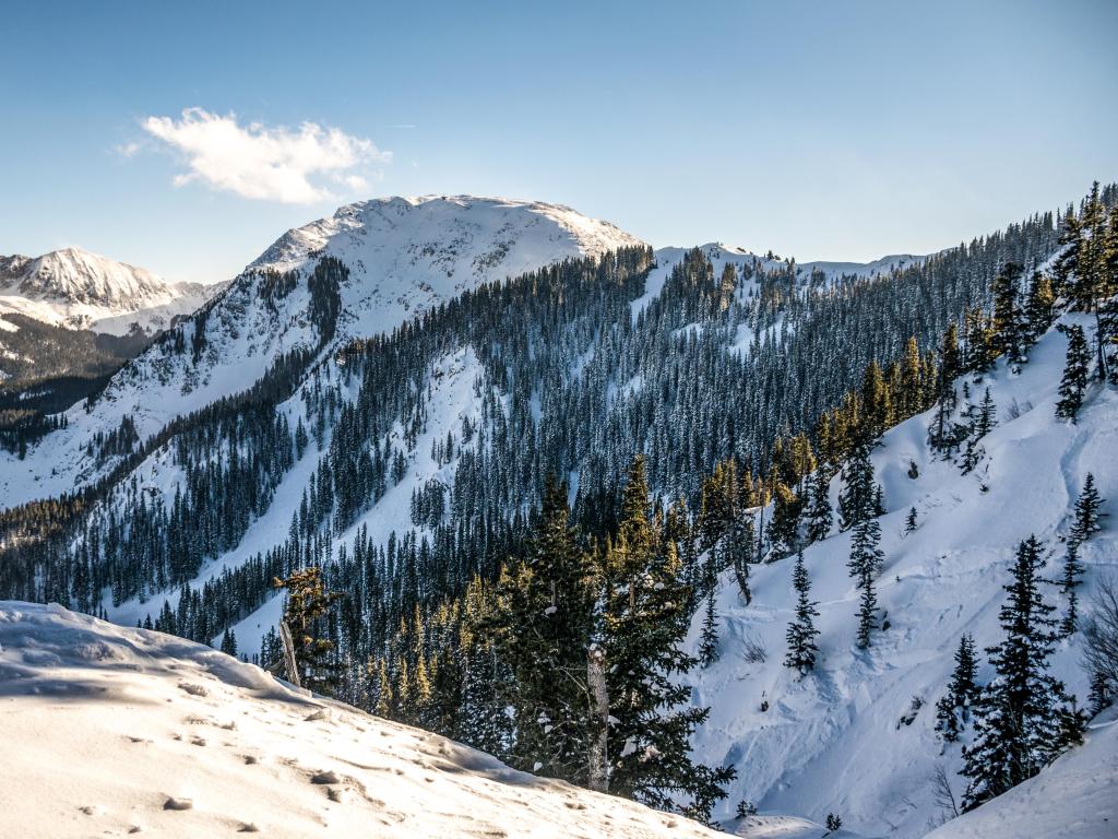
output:
<path id="1" fill-rule="evenodd" d="M 1100 717 L 1103 715 L 1100 715 Z M 927 839 L 1100 839 L 1118 836 L 1118 718 L 1036 777 L 948 822 Z"/>

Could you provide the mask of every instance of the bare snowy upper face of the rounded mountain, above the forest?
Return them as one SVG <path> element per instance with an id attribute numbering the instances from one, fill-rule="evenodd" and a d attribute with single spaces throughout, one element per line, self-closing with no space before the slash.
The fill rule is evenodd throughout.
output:
<path id="1" fill-rule="evenodd" d="M 0 508 L 104 474 L 111 463 L 94 462 L 86 449 L 124 416 L 145 440 L 178 415 L 252 387 L 292 350 L 389 332 L 483 283 L 639 244 L 606 221 L 541 202 L 458 196 L 342 207 L 282 236 L 176 333 L 125 365 L 91 411 L 72 408 L 67 427 L 22 461 L 0 451 Z M 328 256 L 348 275 L 334 330 L 322 336 L 309 277 Z"/>

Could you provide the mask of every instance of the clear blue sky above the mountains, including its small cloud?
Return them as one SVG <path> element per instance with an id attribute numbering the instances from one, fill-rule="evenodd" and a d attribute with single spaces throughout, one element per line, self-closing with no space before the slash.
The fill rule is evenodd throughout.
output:
<path id="1" fill-rule="evenodd" d="M 430 192 L 928 252 L 1118 179 L 1116 31 L 1111 0 L 8 3 L 0 253 L 216 281 Z"/>

